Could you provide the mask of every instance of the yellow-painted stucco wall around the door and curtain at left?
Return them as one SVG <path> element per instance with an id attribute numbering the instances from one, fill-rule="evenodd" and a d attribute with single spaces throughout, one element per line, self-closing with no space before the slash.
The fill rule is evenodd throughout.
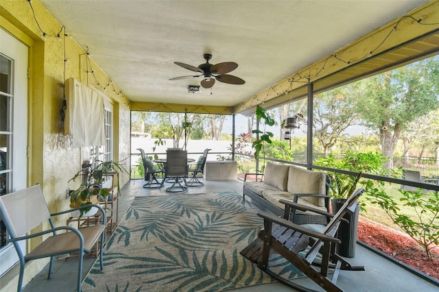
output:
<path id="1" fill-rule="evenodd" d="M 60 32 L 62 25 L 38 0 L 32 1 L 32 7 L 38 24 L 44 32 L 50 35 Z M 28 143 L 30 151 L 27 185 L 40 183 L 43 186 L 43 193 L 51 212 L 65 210 L 69 208 L 69 199 L 65 198 L 66 189 L 73 189 L 79 184 L 79 182 L 69 182 L 69 179 L 80 170 L 82 160 L 88 158 L 89 151 L 87 148 L 73 148 L 71 137 L 63 134 L 60 109 L 62 108 L 62 84 L 64 83 L 64 41 L 59 41 L 55 37 L 47 37 L 47 40 L 43 41 L 27 0 L 0 0 L 0 27 L 29 47 Z M 113 86 L 108 86 L 107 90 L 104 90 L 104 87 L 99 85 L 107 84 L 109 77 L 99 68 L 99 64 L 93 62 L 91 57 L 88 57 L 88 61 L 93 64 L 99 84 L 95 82 L 94 77 L 87 77 L 85 51 L 70 37 L 65 38 L 65 53 L 69 60 L 65 66 L 66 80 L 74 77 L 88 86 L 93 86 L 102 91 L 114 104 L 114 159 L 125 160 L 126 169 L 129 169 L 130 109 L 128 99 L 117 95 L 113 91 Z M 117 84 L 113 85 L 120 91 Z M 129 175 L 121 173 L 121 186 L 128 180 Z M 66 219 L 67 216 L 61 217 L 56 224 L 65 224 Z M 40 240 L 37 239 L 29 243 L 28 249 L 32 249 L 39 242 Z M 38 268 L 34 270 L 38 272 Z M 26 270 L 26 276 L 29 278 L 32 275 L 29 275 Z"/>

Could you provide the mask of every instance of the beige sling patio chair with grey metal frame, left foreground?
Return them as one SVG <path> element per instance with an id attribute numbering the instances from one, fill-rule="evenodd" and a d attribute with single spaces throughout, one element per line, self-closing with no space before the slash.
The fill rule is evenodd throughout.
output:
<path id="1" fill-rule="evenodd" d="M 80 208 L 87 208 L 90 206 L 99 208 L 103 215 L 102 222 L 106 222 L 106 212 L 102 206 L 88 205 Z M 20 275 L 17 291 L 20 292 L 22 289 L 23 274 L 25 270 L 25 263 L 27 261 L 35 260 L 37 258 L 50 257 L 49 275 L 47 276 L 47 278 L 50 279 L 55 256 L 60 254 L 70 254 L 73 252 L 79 253 L 78 291 L 81 291 L 82 260 L 84 253 L 91 252 L 92 247 L 95 245 L 95 243 L 97 243 L 97 241 L 99 241 L 99 239 L 99 260 L 101 269 L 104 268 L 102 261 L 102 249 L 104 247 L 105 239 L 105 224 L 99 223 L 95 226 L 80 228 L 79 230 L 71 226 L 54 226 L 54 221 L 51 217 L 71 212 L 72 210 L 78 210 L 80 208 L 50 214 L 39 184 L 25 188 L 21 191 L 0 196 L 0 214 L 10 236 L 8 242 L 12 242 L 14 244 L 20 261 Z M 49 221 L 51 226 L 49 230 L 26 235 L 29 231 L 46 221 Z M 57 233 L 58 231 L 66 232 Z M 45 234 L 52 235 L 45 239 L 43 243 L 40 243 L 40 245 L 35 247 L 31 252 L 29 252 L 29 254 L 23 254 L 23 251 L 19 246 L 19 241 L 32 239 Z"/>

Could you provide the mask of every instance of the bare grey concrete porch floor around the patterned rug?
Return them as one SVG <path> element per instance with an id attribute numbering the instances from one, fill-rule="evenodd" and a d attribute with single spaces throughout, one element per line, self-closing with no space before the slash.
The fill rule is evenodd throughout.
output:
<path id="1" fill-rule="evenodd" d="M 167 193 L 165 188 L 145 189 L 142 188 L 143 181 L 134 180 L 121 189 L 119 197 L 119 220 L 123 217 L 128 206 L 136 196 L 156 196 L 156 195 L 180 195 L 180 193 Z M 237 191 L 242 193 L 242 182 L 233 181 L 209 181 L 204 186 L 189 188 L 187 193 L 207 193 L 216 191 Z M 433 284 L 416 274 L 403 269 L 392 261 L 379 256 L 375 252 L 357 245 L 355 258 L 349 258 L 348 261 L 353 265 L 364 265 L 366 271 L 341 271 L 337 284 L 343 287 L 344 291 L 439 291 L 439 285 Z M 88 269 L 91 268 L 95 258 L 86 257 L 84 260 L 84 274 L 86 276 Z M 75 291 L 76 275 L 78 269 L 78 259 L 72 258 L 67 261 L 56 260 L 54 274 L 51 280 L 47 280 L 47 267 L 43 269 L 23 291 Z M 10 273 L 18 273 L 18 269 L 12 269 Z M 308 278 L 295 280 L 298 284 L 322 291 L 313 281 Z M 166 287 L 163 287 L 165 291 Z M 281 283 L 263 284 L 252 286 L 245 289 L 236 289 L 235 291 L 296 291 Z"/>

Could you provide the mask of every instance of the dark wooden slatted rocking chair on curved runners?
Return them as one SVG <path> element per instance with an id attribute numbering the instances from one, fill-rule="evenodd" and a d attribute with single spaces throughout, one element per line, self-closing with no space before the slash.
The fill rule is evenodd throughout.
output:
<path id="1" fill-rule="evenodd" d="M 324 290 L 343 291 L 336 284 L 340 269 L 364 271 L 364 267 L 353 267 L 335 253 L 335 244 L 340 243 L 340 239 L 337 239 L 335 235 L 340 222 L 344 220 L 342 217 L 346 212 L 353 212 L 355 210 L 358 204 L 357 199 L 363 192 L 364 188 L 355 191 L 335 215 L 291 201 L 280 200 L 287 208 L 296 208 L 303 211 L 312 209 L 311 211 L 313 212 L 332 217 L 327 226 L 316 224 L 296 225 L 289 221 L 287 208 L 285 208 L 284 218 L 258 211 L 257 214 L 264 219 L 264 229 L 259 232 L 257 239 L 241 251 L 241 255 L 251 260 L 252 263 L 257 263 L 260 269 L 283 284 L 298 289 L 298 291 L 313 291 L 281 278 L 281 276 L 278 276 L 269 269 L 268 258 L 270 256 L 270 248 L 272 248 L 292 263 L 292 265 L 300 269 L 302 273 L 305 273 L 311 280 L 319 284 Z M 304 251 L 307 247 L 309 247 L 309 250 L 307 250 L 305 256 L 299 256 L 298 253 Z M 320 269 L 312 265 L 319 253 L 322 256 L 322 263 L 319 264 Z M 334 269 L 331 279 L 328 278 L 328 269 L 330 267 Z"/>

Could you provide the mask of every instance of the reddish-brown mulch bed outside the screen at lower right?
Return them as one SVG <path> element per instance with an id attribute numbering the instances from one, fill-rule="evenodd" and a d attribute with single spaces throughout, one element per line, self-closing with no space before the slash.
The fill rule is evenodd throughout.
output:
<path id="1" fill-rule="evenodd" d="M 407 234 L 361 216 L 358 239 L 439 280 L 439 246 L 431 250 L 433 259 L 428 260 L 423 248 Z"/>

